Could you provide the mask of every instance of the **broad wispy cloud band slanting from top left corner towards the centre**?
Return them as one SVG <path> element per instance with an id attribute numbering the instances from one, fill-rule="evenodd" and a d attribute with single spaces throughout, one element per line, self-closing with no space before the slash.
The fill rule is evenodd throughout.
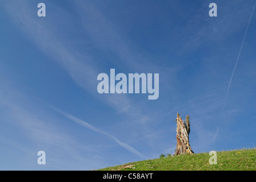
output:
<path id="1" fill-rule="evenodd" d="M 102 95 L 98 94 L 97 75 L 101 73 L 101 71 L 99 71 L 98 67 L 95 65 L 96 61 L 93 59 L 93 55 L 84 50 L 79 51 L 74 47 L 69 46 L 71 45 L 70 43 L 72 41 L 70 38 L 62 37 L 62 39 L 59 39 L 58 31 L 61 31 L 59 30 L 59 28 L 63 27 L 56 27 L 53 22 L 38 20 L 37 16 L 31 16 L 32 12 L 28 1 L 9 1 L 3 3 L 3 5 L 5 5 L 4 7 L 9 13 L 11 20 L 13 20 L 17 24 L 17 26 L 24 33 L 24 35 L 28 39 L 30 39 L 31 42 L 36 44 L 37 47 L 43 53 L 45 53 L 45 55 L 51 57 L 51 60 L 61 65 L 61 67 L 65 69 L 69 76 L 74 80 L 75 84 L 81 86 L 81 88 L 85 89 L 86 92 L 103 101 L 105 104 L 113 107 L 113 109 L 117 110 L 118 112 L 129 113 L 130 115 L 134 115 L 134 117 L 139 117 L 140 115 L 142 115 L 141 113 L 139 113 L 139 106 L 136 104 L 136 102 L 130 100 L 125 94 L 109 94 L 107 97 L 102 97 Z M 61 8 L 55 8 L 58 12 L 61 12 L 61 14 L 67 14 L 67 12 L 62 10 Z M 16 9 L 19 9 L 19 11 L 16 11 Z M 70 17 L 72 16 L 70 15 Z M 92 17 L 94 16 L 92 15 Z M 105 22 L 105 20 L 102 21 Z M 72 21 L 69 21 L 70 27 L 75 26 L 75 24 L 70 22 Z M 59 23 L 65 24 L 66 21 L 63 20 L 63 22 Z M 91 32 L 89 36 L 93 36 L 93 32 Z M 110 36 L 114 36 L 114 30 L 109 30 L 109 32 Z M 94 34 L 94 36 L 98 36 L 97 31 L 95 31 Z M 113 39 L 119 38 L 114 36 Z M 97 40 L 95 41 L 96 44 L 101 44 L 101 42 L 97 42 Z M 118 47 L 118 45 L 109 45 L 107 47 L 111 47 L 111 49 L 114 50 Z M 120 48 L 117 49 L 118 53 L 120 53 L 120 51 Z M 131 56 L 132 53 L 129 52 L 129 55 Z M 135 60 L 135 57 L 133 57 L 133 59 L 131 60 Z M 131 65 L 134 68 L 136 67 L 135 63 Z M 154 66 L 152 67 L 154 68 Z"/>

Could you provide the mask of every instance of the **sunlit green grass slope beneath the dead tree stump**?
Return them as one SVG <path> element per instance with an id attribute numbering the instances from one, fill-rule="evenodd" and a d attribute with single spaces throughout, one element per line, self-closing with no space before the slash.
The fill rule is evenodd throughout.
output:
<path id="1" fill-rule="evenodd" d="M 217 152 L 217 164 L 209 164 L 209 152 L 185 154 L 165 158 L 142 160 L 121 166 L 99 169 L 101 171 L 255 171 L 256 149 Z"/>

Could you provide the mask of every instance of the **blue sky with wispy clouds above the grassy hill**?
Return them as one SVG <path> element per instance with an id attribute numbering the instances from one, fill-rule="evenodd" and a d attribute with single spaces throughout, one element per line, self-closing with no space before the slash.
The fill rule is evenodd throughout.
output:
<path id="1" fill-rule="evenodd" d="M 90 170 L 174 154 L 177 112 L 190 115 L 194 152 L 255 147 L 254 5 L 2 0 L 0 169 Z M 159 73 L 159 98 L 99 94 L 97 76 L 111 68 Z"/>

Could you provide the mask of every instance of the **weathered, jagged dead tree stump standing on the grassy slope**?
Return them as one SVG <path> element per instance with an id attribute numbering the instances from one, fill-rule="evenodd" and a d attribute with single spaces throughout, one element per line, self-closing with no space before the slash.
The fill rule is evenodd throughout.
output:
<path id="1" fill-rule="evenodd" d="M 190 121 L 189 115 L 186 117 L 186 121 L 183 122 L 179 113 L 177 113 L 177 147 L 174 155 L 181 154 L 193 154 L 190 144 L 189 144 L 189 133 L 190 133 Z"/>

